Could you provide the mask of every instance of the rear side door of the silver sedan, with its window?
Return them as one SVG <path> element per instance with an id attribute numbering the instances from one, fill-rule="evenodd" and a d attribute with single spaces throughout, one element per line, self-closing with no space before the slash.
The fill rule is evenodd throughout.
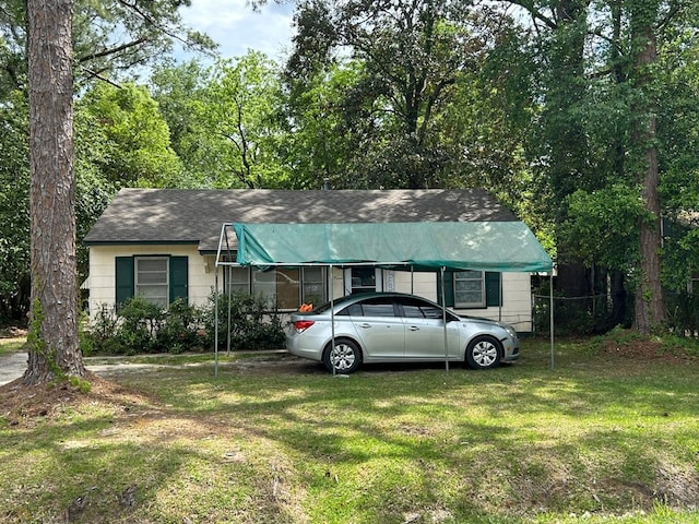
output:
<path id="1" fill-rule="evenodd" d="M 391 297 L 371 297 L 348 308 L 365 350 L 365 360 L 399 360 L 403 357 L 404 324 Z"/>

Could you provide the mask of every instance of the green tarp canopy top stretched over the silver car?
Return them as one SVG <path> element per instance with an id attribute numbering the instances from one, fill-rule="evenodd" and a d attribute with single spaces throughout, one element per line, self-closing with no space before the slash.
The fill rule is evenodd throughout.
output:
<path id="1" fill-rule="evenodd" d="M 358 264 L 417 271 L 550 272 L 553 263 L 522 222 L 233 224 L 237 263 Z"/>

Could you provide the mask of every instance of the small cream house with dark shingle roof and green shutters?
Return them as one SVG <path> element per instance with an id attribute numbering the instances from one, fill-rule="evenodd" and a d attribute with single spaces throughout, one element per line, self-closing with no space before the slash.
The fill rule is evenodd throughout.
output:
<path id="1" fill-rule="evenodd" d="M 204 305 L 216 285 L 223 224 L 519 223 L 482 190 L 154 190 L 125 189 L 84 239 L 90 247 L 90 311 L 135 295 L 163 307 L 177 298 Z M 358 229 L 360 231 L 360 228 Z M 317 239 L 308 239 L 317 241 Z M 367 238 L 370 242 L 372 239 Z M 514 239 L 512 239 L 514 240 Z M 303 241 L 303 237 L 298 241 Z M 406 241 L 424 242 L 415 235 Z M 505 242 L 508 240 L 505 239 Z M 516 242 L 513 242 L 516 243 Z M 229 262 L 237 240 L 224 247 Z M 364 290 L 413 293 L 463 314 L 531 331 L 526 272 L 436 273 L 363 264 L 328 267 L 226 265 L 223 289 L 260 294 L 280 310 Z"/>

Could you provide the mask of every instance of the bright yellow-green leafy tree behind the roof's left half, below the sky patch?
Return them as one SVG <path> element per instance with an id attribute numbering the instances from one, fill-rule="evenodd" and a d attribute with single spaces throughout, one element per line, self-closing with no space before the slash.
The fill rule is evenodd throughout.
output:
<path id="1" fill-rule="evenodd" d="M 189 183 L 211 188 L 288 187 L 279 68 L 251 51 L 211 68 L 159 68 L 155 97 L 173 130 Z M 186 118 L 183 118 L 186 116 Z"/>

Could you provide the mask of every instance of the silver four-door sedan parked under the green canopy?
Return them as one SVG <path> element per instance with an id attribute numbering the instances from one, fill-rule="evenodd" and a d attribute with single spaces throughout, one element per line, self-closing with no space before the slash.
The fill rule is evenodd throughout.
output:
<path id="1" fill-rule="evenodd" d="M 332 310 L 328 302 L 292 313 L 286 348 L 322 361 L 329 371 L 352 373 L 362 362 L 443 361 L 447 356 L 489 369 L 516 360 L 520 342 L 514 329 L 501 322 L 460 317 L 413 295 L 366 293 L 335 300 Z"/>

